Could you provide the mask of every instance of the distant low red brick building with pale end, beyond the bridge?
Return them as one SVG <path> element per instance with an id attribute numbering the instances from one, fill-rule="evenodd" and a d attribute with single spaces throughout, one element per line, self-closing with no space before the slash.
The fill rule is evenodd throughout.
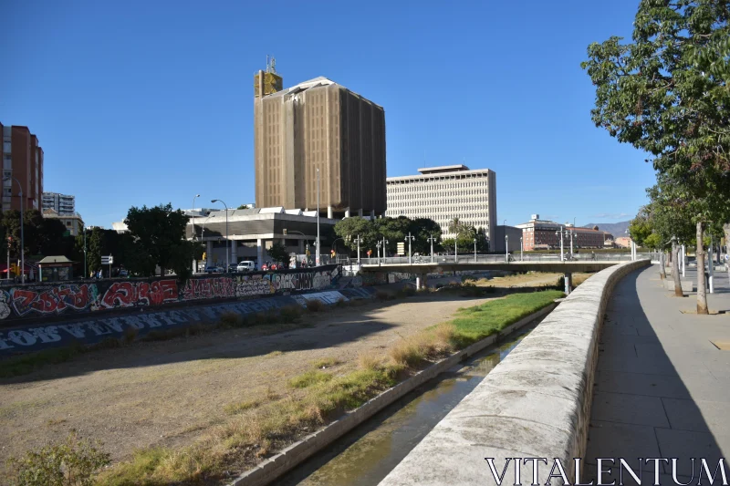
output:
<path id="1" fill-rule="evenodd" d="M 565 248 L 570 247 L 571 233 L 574 249 L 603 248 L 607 240 L 613 239 L 610 233 L 600 231 L 598 226 L 593 228 L 573 227 L 572 224 L 541 220 L 539 214 L 533 214 L 530 221 L 517 224 L 516 227 L 522 229 L 522 244 L 525 251 L 560 248 L 560 235 L 557 232 L 561 229 L 565 232 L 563 233 Z"/>

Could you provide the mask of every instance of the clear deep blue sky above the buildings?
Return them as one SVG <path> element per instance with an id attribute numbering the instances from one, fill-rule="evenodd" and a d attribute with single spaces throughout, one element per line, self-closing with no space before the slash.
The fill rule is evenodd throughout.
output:
<path id="1" fill-rule="evenodd" d="M 272 54 L 285 87 L 325 76 L 384 107 L 389 176 L 425 152 L 495 171 L 500 223 L 623 221 L 652 167 L 593 126 L 579 63 L 631 36 L 637 5 L 5 0 L 0 121 L 36 133 L 46 191 L 87 224 L 197 193 L 254 202 L 253 76 Z"/>

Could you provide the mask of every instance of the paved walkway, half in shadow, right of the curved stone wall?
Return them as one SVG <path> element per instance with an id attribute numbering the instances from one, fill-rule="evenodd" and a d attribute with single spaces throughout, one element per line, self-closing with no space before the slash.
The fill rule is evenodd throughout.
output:
<path id="1" fill-rule="evenodd" d="M 696 281 L 695 272 L 688 267 L 686 278 Z M 726 314 L 681 313 L 694 310 L 696 293 L 673 297 L 662 288 L 658 265 L 616 285 L 600 341 L 583 472 L 587 481 L 596 479 L 596 458 L 624 458 L 634 469 L 637 458 L 678 458 L 677 479 L 686 483 L 693 476 L 690 458 L 697 458 L 696 484 L 699 458 L 714 471 L 718 459 L 730 453 L 730 284 L 725 271 L 715 274 L 714 288 L 715 294 L 707 295 L 709 307 Z M 728 350 L 711 341 L 725 341 Z M 671 465 L 660 468 L 660 483 L 674 484 Z M 643 484 L 652 484 L 653 463 L 642 469 Z M 616 479 L 619 484 L 615 469 L 607 477 L 604 483 Z M 635 484 L 626 474 L 623 482 Z"/>

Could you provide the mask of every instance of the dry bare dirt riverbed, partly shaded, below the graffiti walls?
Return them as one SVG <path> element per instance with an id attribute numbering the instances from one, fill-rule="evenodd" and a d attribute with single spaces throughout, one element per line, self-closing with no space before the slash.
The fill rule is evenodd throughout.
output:
<path id="1" fill-rule="evenodd" d="M 287 379 L 334 358 L 343 371 L 485 299 L 428 295 L 308 315 L 306 327 L 266 326 L 92 352 L 0 381 L 0 462 L 63 439 L 100 439 L 113 460 L 136 448 L 190 443 L 229 416 L 228 404 L 287 393 Z M 268 331 L 281 330 L 281 326 Z"/>

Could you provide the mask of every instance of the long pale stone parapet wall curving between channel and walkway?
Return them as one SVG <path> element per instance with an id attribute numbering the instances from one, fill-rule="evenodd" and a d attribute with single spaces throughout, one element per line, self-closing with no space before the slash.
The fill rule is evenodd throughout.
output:
<path id="1" fill-rule="evenodd" d="M 581 284 L 380 486 L 495 484 L 486 458 L 494 458 L 497 474 L 504 470 L 504 484 L 516 482 L 515 463 L 505 467 L 508 458 L 547 458 L 547 465 L 539 463 L 538 481 L 532 481 L 533 463 L 522 462 L 523 483 L 545 484 L 555 458 L 574 481 L 574 458 L 586 450 L 606 305 L 621 277 L 649 264 L 612 266 Z"/>

